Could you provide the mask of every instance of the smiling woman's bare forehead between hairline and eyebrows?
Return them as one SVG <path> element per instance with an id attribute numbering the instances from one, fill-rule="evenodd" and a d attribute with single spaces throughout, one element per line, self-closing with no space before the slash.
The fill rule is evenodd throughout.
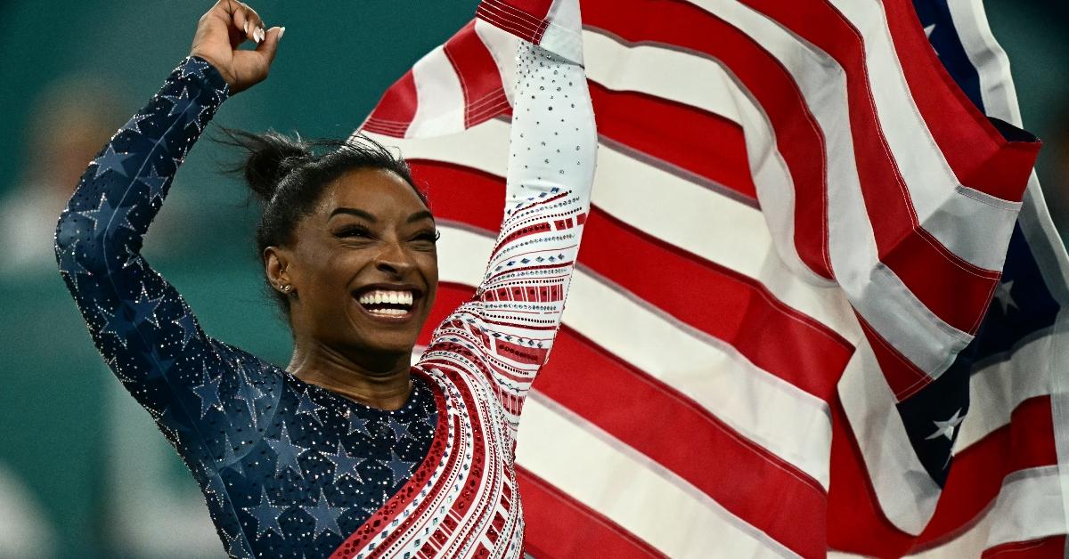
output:
<path id="1" fill-rule="evenodd" d="M 346 171 L 326 186 L 319 204 L 321 213 L 338 207 L 355 207 L 375 215 L 403 214 L 427 209 L 412 185 L 386 169 Z"/>

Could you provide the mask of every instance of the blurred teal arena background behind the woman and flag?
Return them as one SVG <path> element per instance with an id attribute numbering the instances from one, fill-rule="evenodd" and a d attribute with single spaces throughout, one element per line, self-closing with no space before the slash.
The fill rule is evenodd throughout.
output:
<path id="1" fill-rule="evenodd" d="M 285 38 L 272 78 L 228 100 L 216 122 L 345 137 L 477 1 L 252 4 L 269 26 L 286 26 Z M 86 165 L 188 52 L 210 5 L 0 2 L 0 558 L 223 556 L 192 478 L 99 358 L 52 253 L 56 220 Z M 1039 175 L 1065 234 L 1069 3 L 985 5 L 1025 126 L 1045 142 Z M 292 345 L 261 297 L 255 207 L 218 172 L 230 154 L 201 143 L 144 253 L 210 336 L 284 367 Z"/>

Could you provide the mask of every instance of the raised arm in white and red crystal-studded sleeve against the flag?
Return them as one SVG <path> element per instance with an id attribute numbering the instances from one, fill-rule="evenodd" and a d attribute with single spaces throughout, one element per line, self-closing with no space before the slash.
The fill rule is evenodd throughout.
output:
<path id="1" fill-rule="evenodd" d="M 577 2 L 576 2 L 577 3 Z M 576 7 L 577 10 L 577 7 Z M 575 36 L 578 30 L 575 30 Z M 577 41 L 577 40 L 576 40 Z M 475 347 L 515 426 L 560 327 L 590 208 L 598 136 L 580 61 L 521 41 L 505 218 L 482 282 L 435 331 L 423 360 Z"/>

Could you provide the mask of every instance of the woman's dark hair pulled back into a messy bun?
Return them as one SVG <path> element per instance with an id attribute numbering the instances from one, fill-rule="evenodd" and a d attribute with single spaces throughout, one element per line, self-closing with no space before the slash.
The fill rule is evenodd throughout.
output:
<path id="1" fill-rule="evenodd" d="M 347 171 L 392 171 L 428 204 L 427 195 L 416 187 L 412 178 L 408 164 L 362 134 L 353 135 L 348 140 L 304 140 L 299 135 L 291 138 L 275 130 L 254 134 L 226 127 L 220 129 L 222 136 L 215 138 L 217 142 L 245 152 L 242 160 L 226 170 L 244 177 L 262 203 L 255 238 L 258 260 L 261 262 L 265 248 L 294 240 L 297 224 L 315 207 L 324 188 Z M 275 290 L 269 282 L 266 288 L 289 317 L 289 297 Z"/>

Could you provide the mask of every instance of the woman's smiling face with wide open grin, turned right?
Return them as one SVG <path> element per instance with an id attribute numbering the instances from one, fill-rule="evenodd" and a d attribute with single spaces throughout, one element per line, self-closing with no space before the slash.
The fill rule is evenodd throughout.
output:
<path id="1" fill-rule="evenodd" d="M 410 354 L 438 284 L 435 234 L 427 205 L 391 171 L 354 170 L 328 185 L 295 246 L 279 251 L 298 340 Z"/>

